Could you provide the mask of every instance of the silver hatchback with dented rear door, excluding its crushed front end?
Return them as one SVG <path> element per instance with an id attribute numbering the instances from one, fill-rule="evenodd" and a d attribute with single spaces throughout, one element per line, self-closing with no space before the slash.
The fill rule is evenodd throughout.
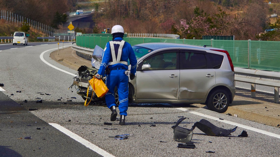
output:
<path id="1" fill-rule="evenodd" d="M 173 43 L 132 48 L 137 71 L 129 80 L 130 103 L 200 103 L 219 113 L 232 103 L 234 67 L 226 50 Z"/>

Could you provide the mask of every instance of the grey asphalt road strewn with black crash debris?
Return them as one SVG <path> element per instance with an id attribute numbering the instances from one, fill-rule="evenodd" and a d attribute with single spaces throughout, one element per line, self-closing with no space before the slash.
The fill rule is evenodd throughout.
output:
<path id="1" fill-rule="evenodd" d="M 57 43 L 2 46 L 0 156 L 280 156 L 279 128 L 191 105 L 132 104 L 127 125 L 120 126 L 109 120 L 106 106 L 85 107 L 84 100 L 68 90 L 76 71 L 50 59 Z M 195 128 L 196 148 L 177 148 L 171 127 L 181 116 L 187 119 L 180 126 L 188 129 L 201 119 L 224 129 L 238 127 L 227 137 Z M 238 137 L 243 130 L 248 137 Z M 120 134 L 130 137 L 109 137 Z"/>

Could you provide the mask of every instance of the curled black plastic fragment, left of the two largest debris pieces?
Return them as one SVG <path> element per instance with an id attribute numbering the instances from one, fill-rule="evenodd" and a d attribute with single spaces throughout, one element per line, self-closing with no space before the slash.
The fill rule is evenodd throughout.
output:
<path id="1" fill-rule="evenodd" d="M 193 131 L 190 129 L 186 129 L 186 128 L 178 126 L 184 119 L 186 119 L 186 118 L 185 117 L 180 118 L 177 121 L 176 125 L 172 126 L 173 132 L 174 132 L 173 139 L 178 142 L 187 143 L 192 140 Z"/>

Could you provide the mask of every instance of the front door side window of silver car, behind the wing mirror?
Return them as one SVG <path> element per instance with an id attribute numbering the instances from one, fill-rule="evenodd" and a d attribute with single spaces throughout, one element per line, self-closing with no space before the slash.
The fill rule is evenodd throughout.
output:
<path id="1" fill-rule="evenodd" d="M 176 52 L 162 53 L 143 61 L 150 64 L 151 70 L 176 69 Z"/>

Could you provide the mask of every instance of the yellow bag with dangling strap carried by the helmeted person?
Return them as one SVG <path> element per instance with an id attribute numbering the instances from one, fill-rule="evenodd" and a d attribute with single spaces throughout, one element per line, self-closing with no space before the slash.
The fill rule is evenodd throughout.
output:
<path id="1" fill-rule="evenodd" d="M 109 89 L 107 88 L 107 86 L 104 84 L 104 82 L 101 79 L 96 79 L 95 77 L 93 77 L 88 82 L 91 85 L 91 87 L 94 90 L 97 97 L 103 97 L 109 91 Z M 88 89 L 89 89 L 89 86 L 88 86 Z M 87 97 L 88 97 L 88 89 L 87 89 Z M 92 96 L 93 96 L 93 93 L 92 93 Z M 92 100 L 92 96 L 90 98 L 90 101 Z M 87 103 L 87 99 L 86 99 L 85 106 L 88 106 L 90 101 Z"/>

